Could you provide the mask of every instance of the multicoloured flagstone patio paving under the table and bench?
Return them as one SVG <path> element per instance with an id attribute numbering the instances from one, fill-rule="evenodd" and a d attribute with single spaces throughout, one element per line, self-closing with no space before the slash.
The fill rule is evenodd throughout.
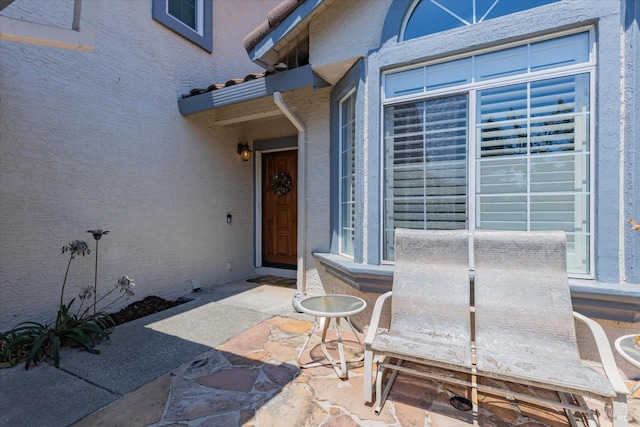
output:
<path id="1" fill-rule="evenodd" d="M 350 367 L 348 380 L 338 379 L 330 366 L 298 369 L 295 358 L 311 327 L 310 322 L 274 317 L 74 426 L 568 425 L 562 412 L 482 394 L 474 420 L 472 411 L 460 411 L 449 404 L 452 396 L 464 396 L 465 390 L 403 375 L 398 376 L 381 414 L 376 415 L 362 400 L 361 363 Z M 343 337 L 345 344 L 355 343 L 353 334 Z M 323 359 L 319 338 L 313 339 L 302 363 Z M 638 406 L 630 406 L 635 419 L 640 417 Z M 590 407 L 594 407 L 591 401 Z M 600 422 L 611 425 L 604 414 Z"/>

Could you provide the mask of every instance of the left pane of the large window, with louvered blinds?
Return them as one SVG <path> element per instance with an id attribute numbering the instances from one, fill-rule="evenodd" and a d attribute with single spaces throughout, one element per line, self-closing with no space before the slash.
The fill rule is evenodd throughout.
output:
<path id="1" fill-rule="evenodd" d="M 466 228 L 467 95 L 385 109 L 385 258 L 395 228 Z"/>

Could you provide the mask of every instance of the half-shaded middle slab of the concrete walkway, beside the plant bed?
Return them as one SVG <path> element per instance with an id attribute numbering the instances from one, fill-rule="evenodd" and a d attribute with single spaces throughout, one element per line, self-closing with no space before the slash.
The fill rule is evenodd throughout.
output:
<path id="1" fill-rule="evenodd" d="M 111 342 L 98 346 L 99 355 L 65 351 L 60 364 L 70 374 L 124 396 L 269 317 L 195 300 L 117 327 Z"/>

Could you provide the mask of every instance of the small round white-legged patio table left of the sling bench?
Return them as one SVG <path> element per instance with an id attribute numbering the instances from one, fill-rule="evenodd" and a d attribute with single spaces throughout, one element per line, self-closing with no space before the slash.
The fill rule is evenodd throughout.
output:
<path id="1" fill-rule="evenodd" d="M 317 297 L 305 298 L 300 301 L 300 311 L 315 316 L 316 320 L 313 324 L 313 328 L 311 328 L 311 331 L 307 336 L 307 340 L 304 342 L 304 345 L 300 350 L 300 353 L 298 353 L 298 366 L 301 368 L 313 368 L 316 366 L 331 365 L 336 371 L 336 374 L 338 374 L 338 378 L 346 378 L 347 363 L 361 362 L 364 360 L 364 346 L 362 345 L 362 341 L 360 341 L 360 337 L 358 337 L 358 334 L 356 333 L 356 330 L 351 323 L 350 317 L 362 312 L 366 307 L 367 303 L 365 302 L 365 300 L 351 295 L 322 295 Z M 331 319 L 335 319 L 335 329 L 338 342 L 338 354 L 340 355 L 340 364 L 338 364 L 338 362 L 333 357 L 331 357 L 329 351 L 327 350 L 327 330 L 329 329 L 329 323 L 331 322 Z M 344 319 L 345 322 L 349 325 L 351 331 L 358 340 L 358 344 L 360 344 L 360 347 L 362 347 L 362 356 L 355 359 L 345 359 L 344 345 L 342 343 L 342 333 L 340 331 L 341 319 Z M 320 347 L 322 348 L 322 352 L 324 353 L 327 361 L 301 364 L 300 357 L 302 356 L 304 350 L 307 348 L 309 340 L 318 327 L 322 329 Z"/>

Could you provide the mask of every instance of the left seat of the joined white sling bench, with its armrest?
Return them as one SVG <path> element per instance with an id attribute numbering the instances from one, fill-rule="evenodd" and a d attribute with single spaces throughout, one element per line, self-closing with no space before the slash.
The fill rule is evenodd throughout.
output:
<path id="1" fill-rule="evenodd" d="M 376 413 L 398 371 L 447 381 L 437 374 L 402 366 L 405 361 L 471 373 L 469 232 L 396 229 L 395 270 L 391 292 L 378 297 L 365 337 L 364 399 L 372 401 L 373 358 Z M 388 331 L 378 332 L 384 303 L 391 299 Z M 397 359 L 397 363 L 389 360 Z M 385 369 L 392 373 L 382 392 Z M 452 382 L 456 379 L 452 378 Z"/>

